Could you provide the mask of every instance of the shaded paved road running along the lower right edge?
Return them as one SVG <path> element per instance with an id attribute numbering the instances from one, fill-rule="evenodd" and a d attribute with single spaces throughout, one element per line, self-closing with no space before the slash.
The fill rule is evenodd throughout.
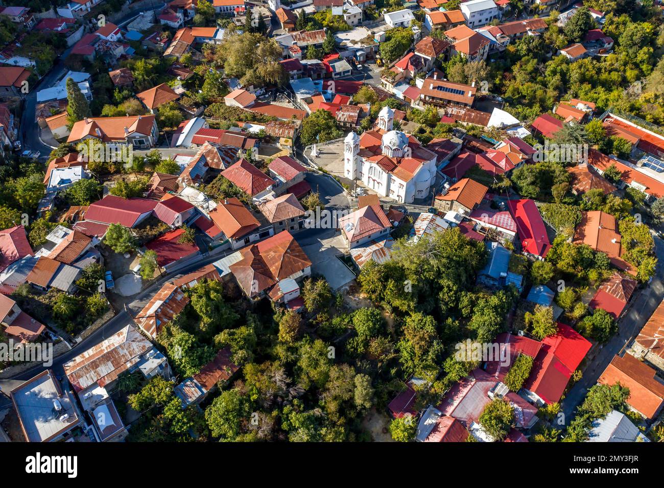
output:
<path id="1" fill-rule="evenodd" d="M 645 322 L 653 314 L 664 297 L 664 241 L 655 237 L 655 253 L 657 254 L 657 272 L 653 280 L 636 297 L 633 305 L 619 323 L 618 334 L 602 347 L 592 363 L 586 366 L 583 378 L 568 392 L 562 402 L 562 412 L 567 420 L 572 419 L 574 409 L 586 397 L 588 388 L 596 384 L 598 378 L 611 363 L 614 356 L 622 351 L 625 345 L 639 333 Z"/>

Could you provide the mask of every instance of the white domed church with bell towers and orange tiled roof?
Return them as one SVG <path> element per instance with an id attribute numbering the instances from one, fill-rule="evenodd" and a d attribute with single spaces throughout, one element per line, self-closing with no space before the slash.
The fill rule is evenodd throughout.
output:
<path id="1" fill-rule="evenodd" d="M 344 175 L 359 179 L 382 197 L 413 203 L 429 194 L 436 180 L 436 154 L 413 137 L 393 129 L 394 110 L 378 114 L 378 129 L 344 141 Z"/>

